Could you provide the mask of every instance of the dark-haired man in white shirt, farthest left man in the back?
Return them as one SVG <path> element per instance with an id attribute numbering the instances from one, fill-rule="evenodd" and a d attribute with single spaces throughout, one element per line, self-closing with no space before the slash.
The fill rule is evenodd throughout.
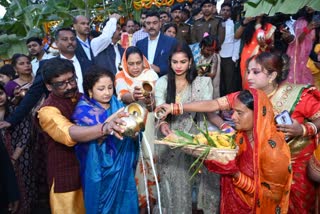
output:
<path id="1" fill-rule="evenodd" d="M 39 37 L 30 37 L 29 39 L 27 39 L 26 45 L 30 56 L 34 57 L 34 59 L 31 61 L 31 65 L 32 73 L 35 76 L 39 68 L 40 60 L 50 59 L 54 56 L 44 51 L 42 39 L 40 39 Z"/>

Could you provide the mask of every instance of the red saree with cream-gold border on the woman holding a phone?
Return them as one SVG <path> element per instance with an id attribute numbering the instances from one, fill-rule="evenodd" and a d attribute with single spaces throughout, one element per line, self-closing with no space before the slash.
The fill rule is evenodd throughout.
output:
<path id="1" fill-rule="evenodd" d="M 315 87 L 282 84 L 271 98 L 275 114 L 288 110 L 300 124 L 320 118 L 320 91 Z M 316 136 L 295 137 L 288 142 L 293 180 L 288 213 L 310 213 L 315 208 L 315 183 L 307 173 L 307 164 L 316 148 Z"/>

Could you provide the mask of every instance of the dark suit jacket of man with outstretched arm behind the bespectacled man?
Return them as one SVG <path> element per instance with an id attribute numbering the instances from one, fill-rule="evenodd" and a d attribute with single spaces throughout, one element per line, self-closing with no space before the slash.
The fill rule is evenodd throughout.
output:
<path id="1" fill-rule="evenodd" d="M 84 74 L 86 70 L 91 65 L 93 65 L 93 63 L 88 60 L 87 56 L 81 57 L 81 56 L 78 56 L 76 53 L 76 57 L 79 60 L 81 71 Z M 44 64 L 45 61 L 46 60 L 40 61 L 39 69 Z M 46 96 L 49 94 L 49 91 L 47 90 L 43 82 L 42 75 L 39 72 L 39 69 L 25 97 L 20 101 L 16 109 L 6 119 L 6 121 L 9 122 L 11 126 L 15 126 L 18 123 L 20 123 L 23 120 L 23 118 L 30 113 L 32 108 L 36 106 L 36 104 L 41 99 L 43 94 L 46 94 Z"/>

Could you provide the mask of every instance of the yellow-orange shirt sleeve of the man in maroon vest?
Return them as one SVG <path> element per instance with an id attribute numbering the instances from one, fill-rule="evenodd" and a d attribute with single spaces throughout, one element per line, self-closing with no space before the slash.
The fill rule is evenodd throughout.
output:
<path id="1" fill-rule="evenodd" d="M 69 128 L 74 124 L 64 117 L 60 110 L 45 106 L 38 111 L 39 124 L 44 132 L 61 144 L 74 146 L 77 142 L 73 141 L 69 135 Z"/>

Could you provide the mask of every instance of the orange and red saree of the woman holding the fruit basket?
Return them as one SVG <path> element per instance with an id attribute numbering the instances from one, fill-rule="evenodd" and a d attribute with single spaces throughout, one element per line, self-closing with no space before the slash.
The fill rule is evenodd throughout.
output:
<path id="1" fill-rule="evenodd" d="M 206 161 L 207 168 L 221 176 L 220 212 L 226 214 L 287 213 L 292 180 L 290 150 L 282 133 L 276 131 L 272 105 L 262 92 L 250 89 L 254 97 L 253 147 L 246 133 L 239 131 L 239 152 L 234 161 L 222 165 Z M 237 93 L 225 102 L 233 103 Z M 239 171 L 247 182 L 239 184 L 230 174 Z"/>

